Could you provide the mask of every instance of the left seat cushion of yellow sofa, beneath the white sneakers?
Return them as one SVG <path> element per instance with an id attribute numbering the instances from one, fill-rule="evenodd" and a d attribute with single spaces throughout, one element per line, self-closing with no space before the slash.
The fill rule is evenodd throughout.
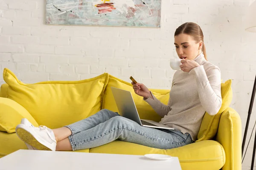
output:
<path id="1" fill-rule="evenodd" d="M 16 133 L 0 132 L 0 158 L 20 149 L 28 149 L 26 144 L 20 140 Z M 89 153 L 90 149 L 76 150 L 70 152 Z"/>

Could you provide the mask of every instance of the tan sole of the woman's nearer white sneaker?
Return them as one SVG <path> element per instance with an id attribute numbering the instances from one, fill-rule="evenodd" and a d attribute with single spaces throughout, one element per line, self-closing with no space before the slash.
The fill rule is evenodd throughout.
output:
<path id="1" fill-rule="evenodd" d="M 51 150 L 49 147 L 46 147 L 44 144 L 38 142 L 37 139 L 27 130 L 24 129 L 25 127 L 17 127 L 16 133 L 17 136 L 27 144 L 31 145 L 32 147 L 37 148 L 38 150 Z"/>

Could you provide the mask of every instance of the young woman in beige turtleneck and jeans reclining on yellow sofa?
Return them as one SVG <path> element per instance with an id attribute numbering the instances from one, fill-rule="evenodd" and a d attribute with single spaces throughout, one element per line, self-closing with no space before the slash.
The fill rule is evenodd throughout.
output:
<path id="1" fill-rule="evenodd" d="M 148 147 L 171 149 L 193 143 L 204 113 L 218 113 L 221 107 L 221 72 L 207 61 L 204 35 L 195 23 L 184 23 L 174 35 L 180 57 L 180 70 L 172 81 L 168 105 L 161 103 L 148 88 L 132 82 L 137 95 L 143 96 L 163 118 L 160 123 L 175 130 L 160 130 L 103 109 L 93 116 L 58 129 L 34 127 L 27 119 L 17 125 L 16 133 L 29 149 L 81 150 L 98 147 L 116 139 Z"/>

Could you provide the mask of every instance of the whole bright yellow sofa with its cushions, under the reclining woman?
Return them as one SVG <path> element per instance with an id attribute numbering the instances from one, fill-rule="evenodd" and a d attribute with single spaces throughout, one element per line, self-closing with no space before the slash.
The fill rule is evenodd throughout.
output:
<path id="1" fill-rule="evenodd" d="M 57 128 L 84 119 L 100 109 L 118 111 L 110 87 L 131 91 L 142 119 L 161 119 L 136 95 L 129 82 L 108 73 L 80 81 L 48 81 L 25 84 L 5 68 L 6 84 L 0 89 L 0 158 L 19 149 L 27 149 L 17 137 L 15 126 L 26 117 L 35 126 Z M 150 89 L 167 104 L 169 90 Z M 75 152 L 144 155 L 160 153 L 177 156 L 183 170 L 241 170 L 241 119 L 229 108 L 231 80 L 221 84 L 223 104 L 215 116 L 205 114 L 198 140 L 183 147 L 164 150 L 119 140 L 100 147 Z"/>

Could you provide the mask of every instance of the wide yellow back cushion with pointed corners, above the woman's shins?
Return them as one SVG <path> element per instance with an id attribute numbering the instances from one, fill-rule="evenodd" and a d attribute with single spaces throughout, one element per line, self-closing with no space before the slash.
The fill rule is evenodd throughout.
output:
<path id="1" fill-rule="evenodd" d="M 58 128 L 100 111 L 108 74 L 79 81 L 47 81 L 24 84 L 7 68 L 7 98 L 26 108 L 39 125 Z"/>

